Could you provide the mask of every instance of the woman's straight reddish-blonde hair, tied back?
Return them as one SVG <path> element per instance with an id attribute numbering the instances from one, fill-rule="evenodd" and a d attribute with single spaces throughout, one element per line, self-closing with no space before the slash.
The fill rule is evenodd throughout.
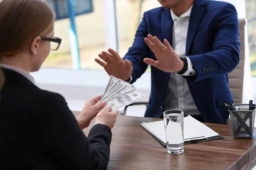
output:
<path id="1" fill-rule="evenodd" d="M 55 14 L 44 0 L 0 0 L 0 57 L 23 52 L 52 30 Z M 3 86 L 0 71 L 0 91 Z"/>

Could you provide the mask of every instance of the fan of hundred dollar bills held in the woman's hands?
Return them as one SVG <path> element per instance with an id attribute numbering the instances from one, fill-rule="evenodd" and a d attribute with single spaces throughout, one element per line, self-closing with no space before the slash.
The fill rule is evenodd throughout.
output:
<path id="1" fill-rule="evenodd" d="M 106 101 L 107 105 L 104 108 L 111 107 L 112 111 L 115 111 L 130 105 L 131 103 L 137 102 L 144 97 L 145 96 L 140 93 L 134 85 L 111 76 L 102 99 L 100 99 L 99 102 Z"/>

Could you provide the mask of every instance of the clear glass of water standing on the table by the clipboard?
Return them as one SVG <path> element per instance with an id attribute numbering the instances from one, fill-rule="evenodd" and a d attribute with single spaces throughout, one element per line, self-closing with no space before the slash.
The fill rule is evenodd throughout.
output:
<path id="1" fill-rule="evenodd" d="M 167 152 L 179 154 L 184 151 L 184 112 L 168 110 L 163 112 Z"/>

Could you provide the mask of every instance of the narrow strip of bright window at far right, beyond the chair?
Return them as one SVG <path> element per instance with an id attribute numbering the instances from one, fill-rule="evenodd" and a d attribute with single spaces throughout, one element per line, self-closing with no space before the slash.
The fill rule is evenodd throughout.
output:
<path id="1" fill-rule="evenodd" d="M 256 77 L 256 0 L 245 0 L 252 76 Z"/>

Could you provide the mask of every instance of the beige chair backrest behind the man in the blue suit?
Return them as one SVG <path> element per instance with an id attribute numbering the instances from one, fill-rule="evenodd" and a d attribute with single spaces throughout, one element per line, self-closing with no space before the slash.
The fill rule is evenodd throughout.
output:
<path id="1" fill-rule="evenodd" d="M 234 97 L 235 103 L 242 103 L 243 85 L 244 85 L 244 57 L 245 57 L 245 34 L 244 28 L 246 19 L 239 19 L 239 42 L 240 46 L 240 62 L 237 67 L 228 74 L 229 88 Z"/>

